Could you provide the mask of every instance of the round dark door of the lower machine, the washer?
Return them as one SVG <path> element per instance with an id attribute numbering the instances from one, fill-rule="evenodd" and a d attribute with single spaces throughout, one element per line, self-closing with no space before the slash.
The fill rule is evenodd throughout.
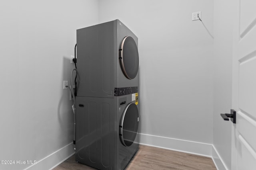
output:
<path id="1" fill-rule="evenodd" d="M 120 125 L 120 137 L 122 144 L 129 147 L 134 142 L 138 132 L 139 111 L 134 103 L 130 103 L 124 109 Z"/>

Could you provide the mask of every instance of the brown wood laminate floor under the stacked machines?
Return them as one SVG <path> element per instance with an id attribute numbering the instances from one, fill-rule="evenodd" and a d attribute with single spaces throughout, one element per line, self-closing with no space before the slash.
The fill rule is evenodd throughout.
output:
<path id="1" fill-rule="evenodd" d="M 95 170 L 70 157 L 54 170 Z M 140 145 L 126 170 L 216 170 L 211 158 Z"/>

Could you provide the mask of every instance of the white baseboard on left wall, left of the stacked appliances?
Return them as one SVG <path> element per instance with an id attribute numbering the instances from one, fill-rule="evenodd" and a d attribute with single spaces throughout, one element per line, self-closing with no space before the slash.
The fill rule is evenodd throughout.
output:
<path id="1" fill-rule="evenodd" d="M 75 153 L 73 142 L 42 158 L 24 170 L 52 170 Z"/>

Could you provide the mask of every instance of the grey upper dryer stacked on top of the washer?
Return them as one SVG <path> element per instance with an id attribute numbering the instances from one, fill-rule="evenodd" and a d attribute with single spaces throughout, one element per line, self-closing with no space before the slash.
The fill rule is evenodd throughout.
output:
<path id="1" fill-rule="evenodd" d="M 138 87 L 138 38 L 114 20 L 76 31 L 77 96 L 113 98 L 115 88 Z"/>

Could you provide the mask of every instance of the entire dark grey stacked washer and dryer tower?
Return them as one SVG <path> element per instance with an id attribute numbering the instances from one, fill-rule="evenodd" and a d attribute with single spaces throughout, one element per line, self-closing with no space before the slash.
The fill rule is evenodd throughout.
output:
<path id="1" fill-rule="evenodd" d="M 76 33 L 76 161 L 124 169 L 138 150 L 138 38 L 119 20 Z"/>

